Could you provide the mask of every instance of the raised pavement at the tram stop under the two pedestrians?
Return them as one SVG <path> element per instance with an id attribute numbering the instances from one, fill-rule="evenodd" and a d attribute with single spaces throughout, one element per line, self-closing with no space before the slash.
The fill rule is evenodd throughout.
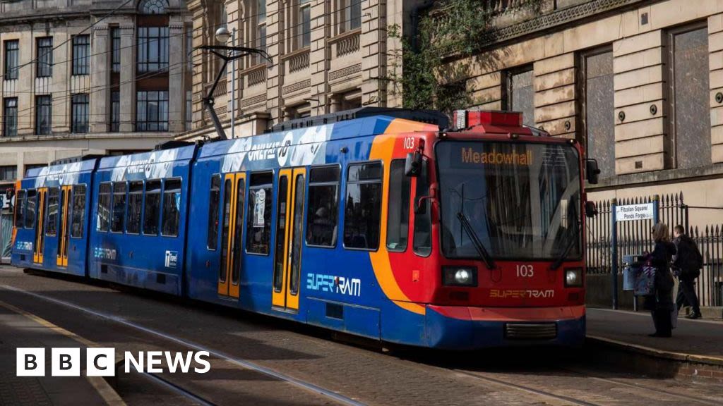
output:
<path id="1" fill-rule="evenodd" d="M 588 337 L 655 350 L 671 357 L 690 355 L 698 361 L 723 365 L 723 321 L 680 317 L 672 337 L 648 337 L 654 331 L 649 312 L 603 308 L 588 308 L 587 311 Z"/>

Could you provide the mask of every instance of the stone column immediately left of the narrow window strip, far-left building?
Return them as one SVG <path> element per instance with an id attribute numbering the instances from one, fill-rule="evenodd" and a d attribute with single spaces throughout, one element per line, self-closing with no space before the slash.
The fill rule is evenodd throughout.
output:
<path id="1" fill-rule="evenodd" d="M 93 28 L 93 59 L 90 61 L 90 132 L 108 131 L 108 113 L 110 109 L 110 93 L 108 78 L 110 69 L 108 61 L 108 25 Z"/>

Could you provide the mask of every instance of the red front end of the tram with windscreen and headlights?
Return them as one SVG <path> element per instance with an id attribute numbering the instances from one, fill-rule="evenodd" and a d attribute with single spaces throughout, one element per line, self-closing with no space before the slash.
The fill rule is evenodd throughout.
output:
<path id="1" fill-rule="evenodd" d="M 427 314 L 432 345 L 581 345 L 579 144 L 521 126 L 519 113 L 461 113 L 471 123 L 434 148 L 442 278 Z"/>

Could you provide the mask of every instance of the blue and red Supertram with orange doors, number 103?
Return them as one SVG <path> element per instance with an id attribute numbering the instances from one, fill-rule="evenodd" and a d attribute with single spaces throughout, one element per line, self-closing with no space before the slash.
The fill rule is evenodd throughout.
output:
<path id="1" fill-rule="evenodd" d="M 596 163 L 521 113 L 448 127 L 361 108 L 30 169 L 12 264 L 404 345 L 581 345 Z"/>

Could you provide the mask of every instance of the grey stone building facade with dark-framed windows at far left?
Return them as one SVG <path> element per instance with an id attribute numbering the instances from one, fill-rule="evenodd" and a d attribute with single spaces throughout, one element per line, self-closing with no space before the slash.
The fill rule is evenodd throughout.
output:
<path id="1" fill-rule="evenodd" d="M 121 4 L 0 2 L 0 188 L 34 166 L 151 150 L 190 128 L 185 1 Z"/>

